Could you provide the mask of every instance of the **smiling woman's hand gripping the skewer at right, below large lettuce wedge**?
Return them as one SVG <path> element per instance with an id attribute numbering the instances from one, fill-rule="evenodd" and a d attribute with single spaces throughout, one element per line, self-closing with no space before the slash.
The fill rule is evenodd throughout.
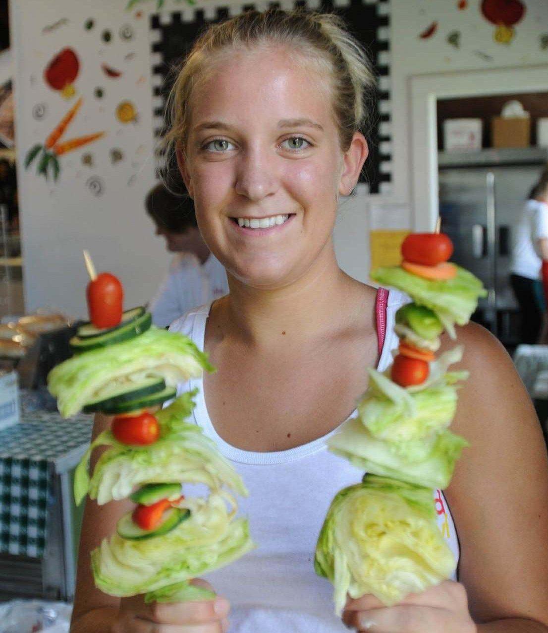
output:
<path id="1" fill-rule="evenodd" d="M 370 594 L 348 599 L 343 622 L 350 629 L 372 633 L 477 633 L 465 588 L 451 580 L 410 594 L 391 607 Z"/>

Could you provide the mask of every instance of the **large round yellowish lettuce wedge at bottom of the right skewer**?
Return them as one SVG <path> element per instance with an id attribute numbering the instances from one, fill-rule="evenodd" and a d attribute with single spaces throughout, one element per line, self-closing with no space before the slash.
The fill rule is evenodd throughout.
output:
<path id="1" fill-rule="evenodd" d="M 334 584 L 340 615 L 347 594 L 391 606 L 451 577 L 456 561 L 437 527 L 432 490 L 367 475 L 333 499 L 314 567 Z"/>

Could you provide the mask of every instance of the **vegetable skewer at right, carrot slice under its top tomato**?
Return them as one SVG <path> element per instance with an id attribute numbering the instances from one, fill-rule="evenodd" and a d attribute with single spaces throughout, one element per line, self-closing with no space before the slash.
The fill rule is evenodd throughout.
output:
<path id="1" fill-rule="evenodd" d="M 316 572 L 334 584 L 338 614 L 347 594 L 371 593 L 393 605 L 451 577 L 456 566 L 437 527 L 433 491 L 449 485 L 467 445 L 448 430 L 467 373 L 449 371 L 461 360 L 461 347 L 437 359 L 435 352 L 442 332 L 454 338 L 454 324 L 468 322 L 485 291 L 448 262 L 453 245 L 437 229 L 408 235 L 401 266 L 371 273 L 412 301 L 396 313 L 400 343 L 393 364 L 384 373 L 369 370 L 358 417 L 328 442 L 333 453 L 365 470 L 361 484 L 332 501 L 315 552 Z"/>

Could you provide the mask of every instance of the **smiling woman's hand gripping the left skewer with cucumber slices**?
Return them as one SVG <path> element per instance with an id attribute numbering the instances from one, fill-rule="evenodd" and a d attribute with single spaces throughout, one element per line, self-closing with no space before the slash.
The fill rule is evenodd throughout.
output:
<path id="1" fill-rule="evenodd" d="M 205 580 L 192 584 L 206 589 Z M 143 596 L 122 598 L 111 633 L 226 633 L 229 602 L 226 598 L 146 605 Z"/>

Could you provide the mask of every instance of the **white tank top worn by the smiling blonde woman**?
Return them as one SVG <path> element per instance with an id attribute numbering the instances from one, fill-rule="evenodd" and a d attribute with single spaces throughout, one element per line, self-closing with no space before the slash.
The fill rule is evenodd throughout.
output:
<path id="1" fill-rule="evenodd" d="M 392 360 L 398 344 L 394 334 L 396 310 L 409 301 L 390 291 L 386 308 L 386 338 L 378 369 Z M 190 337 L 204 349 L 205 322 L 211 303 L 191 310 L 170 330 Z M 338 429 L 287 451 L 254 453 L 225 442 L 207 413 L 202 379 L 181 384 L 179 391 L 198 388 L 193 422 L 213 439 L 233 462 L 248 487 L 239 514 L 248 517 L 257 549 L 206 575 L 219 595 L 231 602 L 231 633 L 343 633 L 348 630 L 334 615 L 333 587 L 314 572 L 316 540 L 335 494 L 360 482 L 363 472 L 330 453 L 326 440 Z M 355 417 L 354 411 L 350 417 Z M 449 506 L 434 491 L 439 527 L 456 560 L 459 547 Z"/>

